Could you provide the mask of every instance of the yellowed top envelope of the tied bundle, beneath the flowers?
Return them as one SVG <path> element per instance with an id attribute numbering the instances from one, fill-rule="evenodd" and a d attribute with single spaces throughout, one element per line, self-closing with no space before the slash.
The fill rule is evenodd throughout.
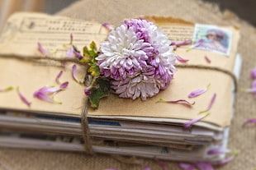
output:
<path id="1" fill-rule="evenodd" d="M 154 21 L 159 23 L 159 26 L 170 36 L 170 39 L 176 41 L 191 39 L 192 37 L 194 25 L 191 22 L 173 18 L 160 18 L 158 22 L 157 17 L 154 17 Z M 239 31 L 232 27 L 226 29 L 232 30 L 234 33 L 230 56 L 198 49 L 187 52 L 188 47 L 178 48 L 176 53 L 189 59 L 189 64 L 220 67 L 233 71 Z M 98 47 L 98 44 L 107 38 L 107 30 L 96 22 L 77 21 L 42 14 L 18 13 L 7 22 L 7 26 L 2 33 L 0 54 L 15 54 L 23 57 L 40 55 L 37 51 L 37 42 L 40 42 L 45 48 L 53 52 L 54 57 L 65 57 L 67 48 L 64 44 L 69 44 L 70 33 L 73 33 L 73 44 L 76 44 L 80 50 L 92 40 L 97 43 Z M 205 55 L 211 57 L 211 64 L 205 61 Z M 28 108 L 24 103 L 21 103 L 17 94 L 11 91 L 0 95 L 1 108 L 58 113 L 76 117 L 80 115 L 85 96 L 83 86 L 78 85 L 72 79 L 72 64 L 69 63 L 64 72 L 65 76 L 61 78 L 61 80 L 69 80 L 69 89 L 56 96 L 56 99 L 63 102 L 62 105 L 45 103 L 32 97 L 33 92 L 41 86 L 55 85 L 55 76 L 62 68 L 39 66 L 37 63 L 25 63 L 5 58 L 1 58 L 0 64 L 5 70 L 4 73 L 0 73 L 2 86 L 19 85 L 21 92 L 32 101 L 31 108 Z M 84 74 L 83 67 L 80 68 L 79 74 Z M 187 98 L 187 94 L 192 90 L 205 88 L 209 84 L 211 86 L 206 94 L 195 99 Z M 168 119 L 190 120 L 198 117 L 198 113 L 207 108 L 212 95 L 216 93 L 216 102 L 210 110 L 210 115 L 202 122 L 210 122 L 220 127 L 229 126 L 233 94 L 231 87 L 232 79 L 222 72 L 178 68 L 168 89 L 153 98 L 141 101 L 140 99 L 121 99 L 111 94 L 111 96 L 101 100 L 97 110 L 90 109 L 88 116 L 133 117 L 133 119 L 136 119 L 135 117 L 138 117 L 138 119 L 149 117 L 151 118 L 150 121 L 153 122 L 157 121 L 157 118 L 166 119 L 166 122 L 168 122 Z M 182 104 L 158 103 L 161 98 L 167 100 L 187 99 L 191 102 L 195 101 L 196 104 L 192 107 L 186 107 Z"/>

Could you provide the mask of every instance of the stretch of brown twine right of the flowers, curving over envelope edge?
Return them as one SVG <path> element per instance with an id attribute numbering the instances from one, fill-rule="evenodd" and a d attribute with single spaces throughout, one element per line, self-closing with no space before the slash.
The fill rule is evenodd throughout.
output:
<path id="1" fill-rule="evenodd" d="M 208 66 L 203 66 L 203 65 L 175 65 L 175 67 L 178 68 L 196 68 L 196 69 L 201 69 L 201 70 L 212 70 L 212 71 L 220 71 L 222 73 L 225 73 L 226 75 L 230 76 L 234 82 L 234 86 L 235 86 L 235 92 L 237 92 L 237 87 L 238 87 L 238 83 L 237 83 L 237 79 L 234 73 L 232 73 L 231 71 L 227 71 L 225 69 L 222 69 L 220 67 L 208 67 Z"/>

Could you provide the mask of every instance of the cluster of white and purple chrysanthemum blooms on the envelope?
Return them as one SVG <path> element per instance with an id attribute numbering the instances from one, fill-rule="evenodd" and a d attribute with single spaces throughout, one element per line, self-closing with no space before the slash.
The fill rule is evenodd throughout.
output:
<path id="1" fill-rule="evenodd" d="M 125 21 L 111 30 L 96 58 L 103 76 L 123 98 L 145 100 L 164 90 L 176 71 L 171 41 L 152 22 Z"/>

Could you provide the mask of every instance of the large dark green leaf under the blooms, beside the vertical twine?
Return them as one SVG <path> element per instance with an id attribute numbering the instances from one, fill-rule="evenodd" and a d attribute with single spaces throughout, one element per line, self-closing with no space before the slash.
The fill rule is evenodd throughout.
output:
<path id="1" fill-rule="evenodd" d="M 91 107 L 97 108 L 100 102 L 100 99 L 106 97 L 110 94 L 111 84 L 110 81 L 104 77 L 98 77 L 97 80 L 93 83 L 93 86 L 97 86 L 97 89 L 92 89 L 89 96 Z"/>

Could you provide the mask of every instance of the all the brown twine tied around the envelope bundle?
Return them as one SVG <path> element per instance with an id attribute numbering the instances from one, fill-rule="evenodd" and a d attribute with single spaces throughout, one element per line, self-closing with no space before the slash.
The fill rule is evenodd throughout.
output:
<path id="1" fill-rule="evenodd" d="M 84 62 L 80 62 L 78 58 L 69 58 L 69 57 L 64 57 L 64 58 L 58 58 L 58 57 L 36 57 L 36 56 L 19 56 L 15 54 L 0 54 L 1 57 L 9 57 L 9 58 L 15 58 L 18 60 L 23 60 L 23 61 L 28 61 L 28 62 L 33 62 L 36 60 L 49 60 L 49 61 L 55 61 L 55 62 L 73 62 L 77 63 L 79 65 L 83 65 L 88 68 L 88 65 Z M 200 69 L 200 70 L 211 70 L 211 71 L 219 71 L 222 72 L 228 76 L 230 76 L 234 82 L 235 86 L 235 92 L 237 92 L 237 79 L 236 76 L 233 72 L 222 69 L 220 67 L 209 67 L 209 66 L 203 66 L 203 65 L 175 65 L 175 67 L 178 68 L 192 68 L 192 69 Z M 82 109 L 81 113 L 81 128 L 82 128 L 82 136 L 83 136 L 83 141 L 84 141 L 84 149 L 86 153 L 88 154 L 95 154 L 94 150 L 92 149 L 92 139 L 90 136 L 90 131 L 89 131 L 89 126 L 88 126 L 88 99 L 85 101 L 85 105 Z"/>

